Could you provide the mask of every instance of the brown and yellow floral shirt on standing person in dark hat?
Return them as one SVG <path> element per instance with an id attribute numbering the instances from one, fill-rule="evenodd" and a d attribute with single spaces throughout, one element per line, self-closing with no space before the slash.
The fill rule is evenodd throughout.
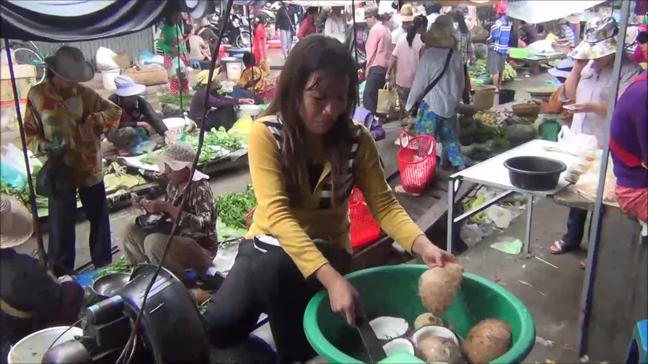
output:
<path id="1" fill-rule="evenodd" d="M 25 111 L 27 145 L 35 154 L 64 142 L 65 163 L 74 170 L 75 187 L 91 187 L 104 179 L 101 135 L 119 126 L 121 108 L 84 85 L 63 98 L 49 80 L 29 89 Z M 96 137 L 87 139 L 79 127 L 90 123 Z"/>

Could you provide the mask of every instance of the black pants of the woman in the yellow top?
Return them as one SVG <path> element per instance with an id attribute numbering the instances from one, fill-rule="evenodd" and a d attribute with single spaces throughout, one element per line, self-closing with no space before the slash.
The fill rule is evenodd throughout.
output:
<path id="1" fill-rule="evenodd" d="M 330 255 L 327 258 L 343 273 L 348 270 L 351 255 L 341 255 L 338 259 Z M 346 263 L 336 263 L 345 258 Z M 303 277 L 283 249 L 261 253 L 251 240 L 244 240 L 234 266 L 203 314 L 207 336 L 216 348 L 233 347 L 249 336 L 260 314 L 266 313 L 279 363 L 306 361 L 314 351 L 304 334 L 304 312 L 321 288 L 315 277 Z"/>

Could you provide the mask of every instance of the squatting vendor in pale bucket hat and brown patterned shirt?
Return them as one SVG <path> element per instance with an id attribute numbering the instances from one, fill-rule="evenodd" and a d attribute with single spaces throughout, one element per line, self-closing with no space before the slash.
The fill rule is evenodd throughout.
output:
<path id="1" fill-rule="evenodd" d="M 218 211 L 209 186 L 209 176 L 196 170 L 189 188 L 187 209 L 181 211 L 179 204 L 182 192 L 189 183 L 189 169 L 196 158 L 196 151 L 186 142 L 176 142 L 156 158 L 159 170 L 167 176 L 169 182 L 164 199 L 133 200 L 132 203 L 148 214 L 161 215 L 165 222 L 147 229 L 143 221 L 150 215 L 140 216 L 140 223 L 133 223 L 122 240 L 126 260 L 129 264 L 159 264 L 173 220 L 181 214 L 179 233 L 174 237 L 164 266 L 188 286 L 192 282 L 185 271 L 191 268 L 203 282 L 218 288 L 222 278 L 212 266 L 218 249 Z M 151 230 L 159 232 L 152 233 Z"/>

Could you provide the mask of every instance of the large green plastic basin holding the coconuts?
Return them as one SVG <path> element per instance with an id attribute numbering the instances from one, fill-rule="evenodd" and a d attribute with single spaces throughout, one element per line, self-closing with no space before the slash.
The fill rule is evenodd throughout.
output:
<path id="1" fill-rule="evenodd" d="M 427 266 L 402 264 L 376 267 L 347 275 L 360 293 L 360 301 L 369 319 L 379 316 L 402 317 L 413 326 L 418 315 L 426 312 L 419 292 L 419 277 Z M 510 350 L 492 363 L 520 363 L 535 343 L 533 317 L 522 302 L 499 284 L 469 272 L 463 273 L 461 288 L 443 321 L 451 324 L 461 338 L 482 319 L 501 319 L 511 325 Z M 308 302 L 304 330 L 310 345 L 330 363 L 363 363 L 362 340 L 357 330 L 347 325 L 341 315 L 330 309 L 329 295 L 320 291 Z M 415 358 L 411 358 L 414 359 Z"/>

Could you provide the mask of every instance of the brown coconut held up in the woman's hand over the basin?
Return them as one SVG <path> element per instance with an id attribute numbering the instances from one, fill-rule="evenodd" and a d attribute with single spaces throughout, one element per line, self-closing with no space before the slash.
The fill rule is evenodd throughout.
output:
<path id="1" fill-rule="evenodd" d="M 454 296 L 461 285 L 463 267 L 454 262 L 446 262 L 443 267 L 434 267 L 421 275 L 419 296 L 423 306 L 439 317 L 452 306 Z"/>

